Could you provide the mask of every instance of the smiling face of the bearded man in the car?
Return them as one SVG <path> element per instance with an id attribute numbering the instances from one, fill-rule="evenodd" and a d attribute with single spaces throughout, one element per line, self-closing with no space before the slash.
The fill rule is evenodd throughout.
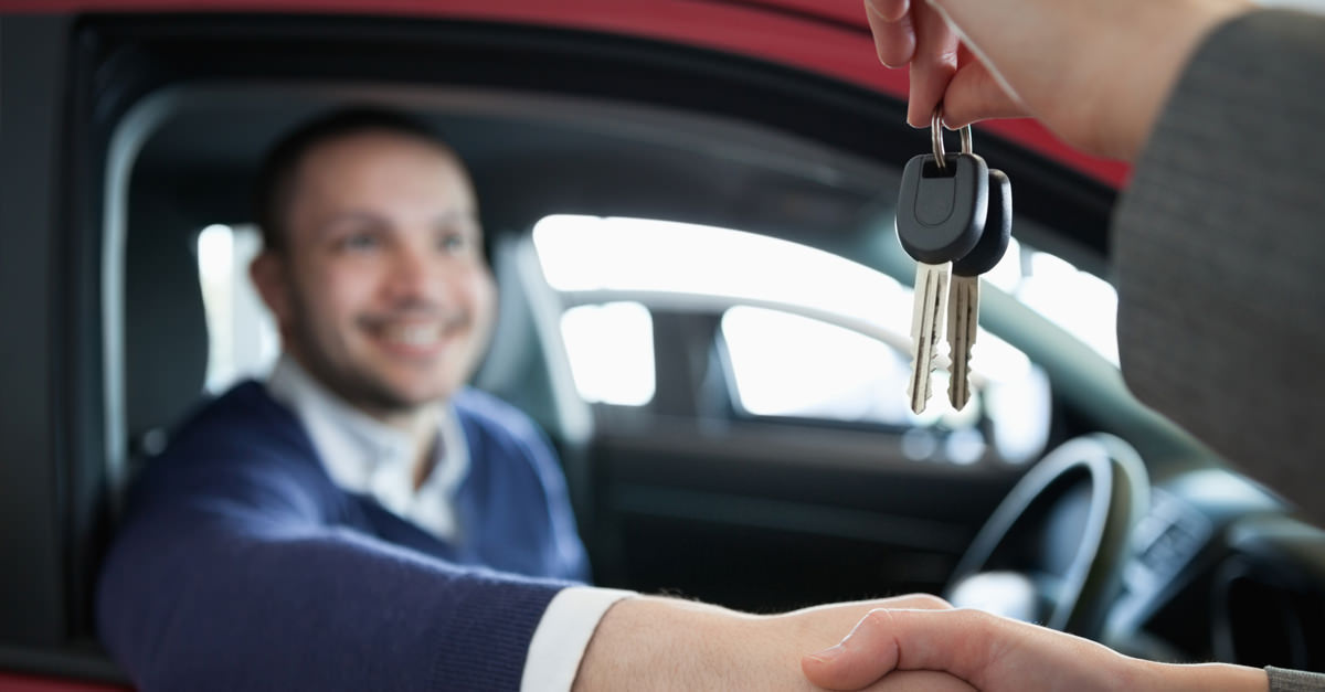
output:
<path id="1" fill-rule="evenodd" d="M 286 231 L 264 296 L 285 347 L 323 386 L 390 416 L 464 384 L 496 288 L 453 154 L 387 131 L 322 143 L 298 166 Z"/>

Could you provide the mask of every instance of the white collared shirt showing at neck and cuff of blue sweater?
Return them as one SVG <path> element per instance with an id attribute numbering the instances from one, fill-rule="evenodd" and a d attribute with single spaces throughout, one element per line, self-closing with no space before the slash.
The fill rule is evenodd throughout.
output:
<path id="1" fill-rule="evenodd" d="M 469 445 L 445 406 L 437 416 L 432 471 L 413 487 L 416 456 L 409 435 L 355 410 L 314 380 L 289 354 L 282 354 L 266 380 L 273 399 L 294 411 L 327 475 L 342 489 L 374 497 L 382 506 L 443 540 L 460 537 L 456 489 L 469 472 Z M 570 692 L 594 630 L 613 603 L 632 591 L 572 586 L 547 605 L 534 630 L 522 692 Z"/>

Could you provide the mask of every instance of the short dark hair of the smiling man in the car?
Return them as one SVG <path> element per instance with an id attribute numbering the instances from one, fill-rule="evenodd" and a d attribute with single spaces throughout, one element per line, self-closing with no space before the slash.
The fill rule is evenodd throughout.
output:
<path id="1" fill-rule="evenodd" d="M 368 131 L 386 131 L 417 138 L 454 155 L 454 148 L 437 129 L 404 113 L 374 106 L 356 106 L 319 115 L 292 130 L 273 144 L 258 168 L 253 213 L 262 231 L 265 249 L 285 251 L 289 237 L 286 213 L 303 156 L 326 142 Z M 456 160 L 460 162 L 460 156 L 456 156 Z"/>

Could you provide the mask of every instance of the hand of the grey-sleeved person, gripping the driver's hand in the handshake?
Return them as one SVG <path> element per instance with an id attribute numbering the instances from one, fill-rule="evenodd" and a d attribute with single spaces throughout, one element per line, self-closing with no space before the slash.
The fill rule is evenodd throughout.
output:
<path id="1" fill-rule="evenodd" d="M 841 643 L 806 656 L 806 677 L 828 689 L 864 689 L 898 671 L 943 671 L 978 689 L 1264 692 L 1264 671 L 1170 665 L 977 610 L 876 610 Z"/>

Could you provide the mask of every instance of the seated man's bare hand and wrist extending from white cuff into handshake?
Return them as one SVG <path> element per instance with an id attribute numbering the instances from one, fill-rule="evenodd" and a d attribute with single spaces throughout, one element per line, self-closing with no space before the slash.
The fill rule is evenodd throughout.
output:
<path id="1" fill-rule="evenodd" d="M 668 598 L 620 601 L 595 630 L 574 689 L 815 689 L 800 671 L 800 656 L 840 640 L 880 607 L 950 606 L 935 597 L 913 595 L 766 616 Z M 967 692 L 970 685 L 947 673 L 921 671 L 888 676 L 871 689 Z"/>

